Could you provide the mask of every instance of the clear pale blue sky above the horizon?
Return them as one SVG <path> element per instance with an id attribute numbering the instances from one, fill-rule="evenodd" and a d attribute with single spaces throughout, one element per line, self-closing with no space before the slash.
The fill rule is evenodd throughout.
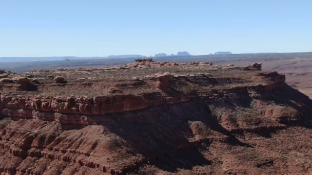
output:
<path id="1" fill-rule="evenodd" d="M 0 0 L 0 57 L 312 51 L 312 1 Z"/>

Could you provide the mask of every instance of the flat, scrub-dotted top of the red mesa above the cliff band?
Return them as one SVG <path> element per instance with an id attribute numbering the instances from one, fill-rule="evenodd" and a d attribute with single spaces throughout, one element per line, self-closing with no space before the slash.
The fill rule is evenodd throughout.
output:
<path id="1" fill-rule="evenodd" d="M 159 76 L 170 75 L 172 88 L 188 93 L 211 91 L 235 86 L 269 83 L 265 77 L 252 78 L 261 73 L 259 68 L 234 65 L 211 65 L 209 62 L 154 62 L 139 61 L 115 67 L 41 70 L 29 73 L 0 74 L 0 92 L 23 96 L 115 96 L 142 95 L 160 92 L 155 86 Z M 27 78 L 35 90 L 16 90 L 18 77 Z M 64 82 L 57 82 L 61 77 Z M 21 80 L 22 81 L 22 80 Z M 19 85 L 21 86 L 21 85 Z M 26 87 L 27 89 L 27 87 Z"/>

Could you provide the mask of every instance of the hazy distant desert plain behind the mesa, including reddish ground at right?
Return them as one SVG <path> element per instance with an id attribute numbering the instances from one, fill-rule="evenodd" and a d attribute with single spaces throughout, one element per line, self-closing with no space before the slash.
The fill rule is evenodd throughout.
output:
<path id="1" fill-rule="evenodd" d="M 44 61 L 52 58 L 56 60 Z M 0 69 L 12 72 L 30 72 L 33 70 L 55 70 L 61 68 L 98 68 L 126 64 L 133 62 L 135 58 L 140 58 L 140 56 L 128 58 L 45 57 L 41 58 L 41 61 L 29 61 L 30 58 L 21 61 L 25 58 L 18 58 L 15 60 L 20 61 L 2 62 Z M 248 65 L 253 62 L 262 62 L 263 70 L 278 71 L 285 74 L 286 82 L 289 85 L 312 98 L 312 79 L 309 78 L 312 77 L 312 52 L 163 56 L 153 57 L 153 59 L 155 61 L 176 62 L 209 61 L 220 65 Z"/>

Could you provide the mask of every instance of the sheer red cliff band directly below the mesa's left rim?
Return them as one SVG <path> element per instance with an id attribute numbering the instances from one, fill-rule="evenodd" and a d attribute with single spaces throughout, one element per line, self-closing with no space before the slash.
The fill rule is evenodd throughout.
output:
<path id="1" fill-rule="evenodd" d="M 60 112 L 65 114 L 100 115 L 108 113 L 121 113 L 134 111 L 152 105 L 166 103 L 167 99 L 172 101 L 180 97 L 161 97 L 159 99 L 145 99 L 144 96 L 116 95 L 112 97 L 33 97 L 23 98 L 21 96 L 1 95 L 0 107 L 20 108 L 23 110 L 35 110 L 46 112 Z"/>

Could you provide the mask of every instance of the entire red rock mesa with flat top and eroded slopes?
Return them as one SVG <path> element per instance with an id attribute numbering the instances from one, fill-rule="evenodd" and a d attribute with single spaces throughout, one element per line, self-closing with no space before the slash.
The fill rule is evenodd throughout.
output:
<path id="1" fill-rule="evenodd" d="M 4 72 L 0 172 L 311 173 L 312 101 L 259 65 Z"/>

